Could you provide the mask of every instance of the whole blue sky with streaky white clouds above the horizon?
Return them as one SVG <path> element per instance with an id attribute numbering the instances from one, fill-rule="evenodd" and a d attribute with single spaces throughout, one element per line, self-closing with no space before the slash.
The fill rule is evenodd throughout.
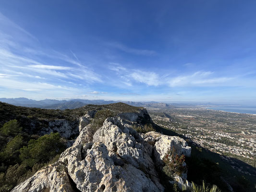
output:
<path id="1" fill-rule="evenodd" d="M 0 97 L 256 104 L 255 9 L 0 0 Z"/>

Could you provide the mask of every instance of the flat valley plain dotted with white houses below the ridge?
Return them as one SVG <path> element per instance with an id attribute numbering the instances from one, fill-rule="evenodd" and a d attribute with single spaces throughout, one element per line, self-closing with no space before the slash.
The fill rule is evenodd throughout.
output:
<path id="1" fill-rule="evenodd" d="M 256 166 L 256 115 L 205 108 L 147 108 L 152 120 L 212 152 Z"/>

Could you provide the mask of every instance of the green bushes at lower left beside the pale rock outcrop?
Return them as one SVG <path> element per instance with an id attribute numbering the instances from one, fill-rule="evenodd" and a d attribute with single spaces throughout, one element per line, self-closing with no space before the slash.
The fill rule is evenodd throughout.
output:
<path id="1" fill-rule="evenodd" d="M 17 120 L 6 122 L 0 129 L 0 192 L 9 192 L 19 182 L 32 176 L 37 170 L 53 163 L 65 149 L 65 141 L 59 133 L 31 139 L 22 132 Z"/>

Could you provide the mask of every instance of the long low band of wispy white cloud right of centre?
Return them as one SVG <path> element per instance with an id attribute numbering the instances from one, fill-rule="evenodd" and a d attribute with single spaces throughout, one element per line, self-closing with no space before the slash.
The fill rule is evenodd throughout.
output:
<path id="1" fill-rule="evenodd" d="M 234 86 L 237 81 L 233 82 L 236 77 L 225 77 L 215 74 L 211 71 L 197 71 L 186 75 L 159 74 L 157 72 L 141 71 L 136 69 L 127 69 L 119 63 L 110 63 L 109 69 L 116 72 L 120 78 L 120 83 L 132 86 L 136 83 L 146 84 L 147 86 L 169 86 L 169 87 L 186 87 L 186 86 Z M 239 83 L 241 85 L 241 83 Z"/>

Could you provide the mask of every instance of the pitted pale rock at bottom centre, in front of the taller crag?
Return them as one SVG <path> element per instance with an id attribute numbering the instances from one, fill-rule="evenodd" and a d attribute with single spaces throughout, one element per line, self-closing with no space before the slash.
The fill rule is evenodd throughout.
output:
<path id="1" fill-rule="evenodd" d="M 124 162 L 117 165 L 105 144 L 94 143 L 91 148 L 85 145 L 73 146 L 60 157 L 60 161 L 67 163 L 68 173 L 80 191 L 100 192 L 102 188 L 106 192 L 160 191 L 140 169 Z M 86 157 L 83 159 L 81 151 L 85 148 Z"/>

